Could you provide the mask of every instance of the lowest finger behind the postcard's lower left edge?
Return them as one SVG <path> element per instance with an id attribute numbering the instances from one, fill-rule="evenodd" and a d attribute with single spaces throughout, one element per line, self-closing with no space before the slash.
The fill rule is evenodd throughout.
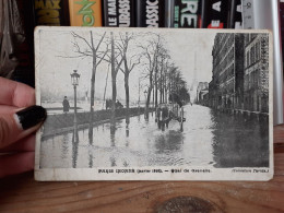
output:
<path id="1" fill-rule="evenodd" d="M 0 156 L 0 178 L 32 170 L 35 164 L 35 153 L 24 152 Z"/>

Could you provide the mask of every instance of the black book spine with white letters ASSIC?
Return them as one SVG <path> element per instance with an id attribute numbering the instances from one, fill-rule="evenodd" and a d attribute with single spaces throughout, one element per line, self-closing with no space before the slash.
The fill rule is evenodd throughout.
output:
<path id="1" fill-rule="evenodd" d="M 138 27 L 164 27 L 165 26 L 165 1 L 162 0 L 137 0 L 135 26 Z"/>

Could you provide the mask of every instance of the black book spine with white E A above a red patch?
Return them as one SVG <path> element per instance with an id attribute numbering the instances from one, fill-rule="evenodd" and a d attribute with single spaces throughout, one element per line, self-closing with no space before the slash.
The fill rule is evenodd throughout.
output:
<path id="1" fill-rule="evenodd" d="M 226 28 L 228 26 L 228 0 L 202 0 L 202 28 Z"/>

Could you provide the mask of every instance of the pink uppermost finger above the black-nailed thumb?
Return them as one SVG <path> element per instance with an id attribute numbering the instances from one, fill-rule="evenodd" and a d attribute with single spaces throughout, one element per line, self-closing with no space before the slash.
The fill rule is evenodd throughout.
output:
<path id="1" fill-rule="evenodd" d="M 0 76 L 0 104 L 27 107 L 35 104 L 35 90 Z"/>

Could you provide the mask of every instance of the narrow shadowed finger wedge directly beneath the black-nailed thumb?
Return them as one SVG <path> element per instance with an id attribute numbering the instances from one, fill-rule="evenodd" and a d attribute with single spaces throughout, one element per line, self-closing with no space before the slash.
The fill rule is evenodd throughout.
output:
<path id="1" fill-rule="evenodd" d="M 0 153 L 10 152 L 34 152 L 35 151 L 35 134 L 28 135 L 11 145 L 0 149 Z"/>

